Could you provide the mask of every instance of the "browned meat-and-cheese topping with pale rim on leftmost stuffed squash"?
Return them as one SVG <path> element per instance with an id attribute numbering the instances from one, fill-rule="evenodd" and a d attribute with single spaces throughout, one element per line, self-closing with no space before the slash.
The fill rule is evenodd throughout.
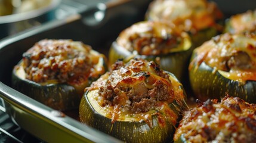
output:
<path id="1" fill-rule="evenodd" d="M 103 63 L 104 55 L 82 42 L 44 39 L 23 54 L 16 69 L 21 78 L 41 85 L 69 83 L 83 91 L 89 78 L 105 72 Z"/>

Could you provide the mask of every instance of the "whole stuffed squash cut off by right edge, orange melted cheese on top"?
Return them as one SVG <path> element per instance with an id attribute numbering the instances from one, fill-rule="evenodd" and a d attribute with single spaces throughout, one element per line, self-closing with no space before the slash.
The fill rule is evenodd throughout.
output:
<path id="1" fill-rule="evenodd" d="M 228 92 L 256 102 L 256 35 L 215 36 L 196 48 L 189 67 L 190 85 L 202 101 Z"/>

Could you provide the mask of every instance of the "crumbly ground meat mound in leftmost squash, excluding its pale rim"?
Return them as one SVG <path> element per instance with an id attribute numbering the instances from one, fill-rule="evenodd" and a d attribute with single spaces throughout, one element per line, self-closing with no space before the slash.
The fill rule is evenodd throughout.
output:
<path id="1" fill-rule="evenodd" d="M 23 54 L 26 79 L 68 82 L 83 78 L 91 69 L 90 46 L 70 40 L 42 40 Z"/>

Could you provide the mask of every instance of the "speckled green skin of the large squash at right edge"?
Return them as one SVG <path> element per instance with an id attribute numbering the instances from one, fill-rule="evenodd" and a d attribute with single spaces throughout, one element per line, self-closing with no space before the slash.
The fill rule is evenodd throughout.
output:
<path id="1" fill-rule="evenodd" d="M 189 71 L 190 85 L 197 98 L 206 101 L 208 98 L 220 100 L 229 94 L 239 97 L 246 102 L 256 102 L 256 81 L 248 80 L 241 83 L 223 77 L 218 71 L 214 72 L 204 62 L 197 68 L 194 64 Z"/>

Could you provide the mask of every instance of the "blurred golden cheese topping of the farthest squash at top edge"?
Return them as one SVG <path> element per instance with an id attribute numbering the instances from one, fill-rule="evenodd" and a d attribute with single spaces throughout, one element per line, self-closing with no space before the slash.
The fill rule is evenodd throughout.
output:
<path id="1" fill-rule="evenodd" d="M 215 21 L 223 17 L 217 5 L 206 0 L 155 0 L 147 14 L 150 20 L 174 23 L 190 32 L 216 26 Z"/>

